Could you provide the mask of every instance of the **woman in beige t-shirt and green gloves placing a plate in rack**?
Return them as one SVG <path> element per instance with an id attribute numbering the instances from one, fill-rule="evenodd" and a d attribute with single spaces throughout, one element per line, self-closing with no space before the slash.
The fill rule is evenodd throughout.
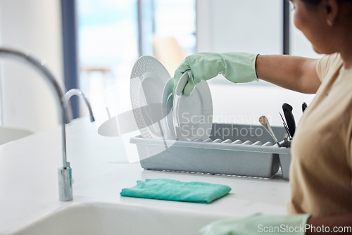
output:
<path id="1" fill-rule="evenodd" d="M 348 227 L 352 228 L 352 0 L 291 3 L 294 25 L 317 53 L 326 55 L 320 60 L 196 53 L 188 56 L 175 72 L 176 84 L 183 72 L 191 70 L 184 88 L 186 96 L 195 84 L 219 73 L 232 82 L 261 79 L 316 94 L 298 124 L 291 146 L 288 210 L 295 215 L 224 220 L 204 228 L 204 234 L 256 234 L 260 228 L 273 224 L 305 227 L 294 234 L 352 234 L 348 231 Z M 341 226 L 347 230 L 341 231 Z"/>

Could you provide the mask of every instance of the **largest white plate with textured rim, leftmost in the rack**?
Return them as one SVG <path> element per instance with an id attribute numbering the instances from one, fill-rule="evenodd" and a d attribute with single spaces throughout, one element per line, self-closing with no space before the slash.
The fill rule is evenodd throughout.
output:
<path id="1" fill-rule="evenodd" d="M 170 74 L 152 56 L 142 56 L 132 68 L 130 96 L 134 118 L 146 139 L 164 139 L 161 97 Z"/>

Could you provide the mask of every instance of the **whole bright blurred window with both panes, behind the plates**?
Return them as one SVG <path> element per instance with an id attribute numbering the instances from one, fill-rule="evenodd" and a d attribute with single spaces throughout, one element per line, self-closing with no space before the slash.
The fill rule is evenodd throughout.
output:
<path id="1" fill-rule="evenodd" d="M 139 19 L 141 11 L 151 11 L 149 19 Z M 152 50 L 148 53 L 165 63 L 171 74 L 182 56 L 195 51 L 195 15 L 195 0 L 78 0 L 80 89 L 94 99 L 119 80 L 129 80 L 134 62 L 142 56 L 140 44 L 149 44 Z M 151 32 L 142 35 L 144 42 L 139 42 L 146 22 L 152 24 L 148 27 Z M 171 49 L 163 43 L 170 39 L 176 45 Z M 166 56 L 160 53 L 168 50 Z"/>

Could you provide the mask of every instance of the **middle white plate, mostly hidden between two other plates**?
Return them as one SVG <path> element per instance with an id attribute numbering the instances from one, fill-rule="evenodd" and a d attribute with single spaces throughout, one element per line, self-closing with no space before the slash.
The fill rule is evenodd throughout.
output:
<path id="1" fill-rule="evenodd" d="M 174 130 L 174 125 L 172 121 L 172 89 L 174 87 L 174 82 L 172 78 L 166 82 L 165 87 L 163 89 L 163 97 L 161 99 L 161 103 L 163 104 L 162 107 L 162 125 L 163 129 L 165 130 L 165 139 L 176 139 L 176 134 Z"/>

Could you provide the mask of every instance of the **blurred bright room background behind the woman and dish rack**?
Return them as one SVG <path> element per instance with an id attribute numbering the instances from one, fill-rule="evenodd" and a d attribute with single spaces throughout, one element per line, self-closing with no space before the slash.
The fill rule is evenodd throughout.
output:
<path id="1" fill-rule="evenodd" d="M 46 61 L 66 89 L 80 88 L 98 123 L 130 108 L 130 72 L 142 55 L 158 58 L 170 76 L 190 53 L 246 51 L 319 58 L 292 25 L 287 0 L 0 0 L 0 46 Z M 282 125 L 282 103 L 313 95 L 266 82 L 210 82 L 214 121 Z M 0 60 L 0 123 L 41 132 L 58 123 L 54 97 L 27 65 Z M 74 99 L 75 118 L 87 115 Z"/>

